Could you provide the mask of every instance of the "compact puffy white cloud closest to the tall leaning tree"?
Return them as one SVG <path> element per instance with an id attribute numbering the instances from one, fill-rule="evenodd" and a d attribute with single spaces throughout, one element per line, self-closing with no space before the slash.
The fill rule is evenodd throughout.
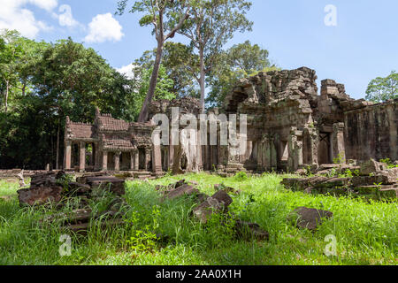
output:
<path id="1" fill-rule="evenodd" d="M 88 24 L 88 35 L 84 41 L 89 43 L 119 42 L 125 35 L 122 33 L 122 28 L 119 21 L 114 19 L 110 12 L 96 15 Z"/>

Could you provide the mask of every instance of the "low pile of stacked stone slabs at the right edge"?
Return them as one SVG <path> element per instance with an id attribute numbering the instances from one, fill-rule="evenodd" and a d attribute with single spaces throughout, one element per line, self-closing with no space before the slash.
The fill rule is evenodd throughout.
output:
<path id="1" fill-rule="evenodd" d="M 398 197 L 398 168 L 388 169 L 387 164 L 373 159 L 357 168 L 353 177 L 287 178 L 282 185 L 308 194 L 354 195 L 372 200 L 394 200 Z"/>

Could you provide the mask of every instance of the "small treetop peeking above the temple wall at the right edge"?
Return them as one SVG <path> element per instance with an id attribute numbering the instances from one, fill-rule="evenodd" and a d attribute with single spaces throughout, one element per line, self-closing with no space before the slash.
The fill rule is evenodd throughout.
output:
<path id="1" fill-rule="evenodd" d="M 398 98 L 398 73 L 391 72 L 386 78 L 371 80 L 366 89 L 366 99 L 375 103 Z"/>

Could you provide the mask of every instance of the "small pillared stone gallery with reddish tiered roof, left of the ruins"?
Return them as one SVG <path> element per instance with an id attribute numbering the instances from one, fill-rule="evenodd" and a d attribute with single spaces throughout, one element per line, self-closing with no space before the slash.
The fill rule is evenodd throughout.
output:
<path id="1" fill-rule="evenodd" d="M 150 171 L 155 126 L 127 123 L 96 111 L 94 124 L 66 118 L 65 170 Z"/>

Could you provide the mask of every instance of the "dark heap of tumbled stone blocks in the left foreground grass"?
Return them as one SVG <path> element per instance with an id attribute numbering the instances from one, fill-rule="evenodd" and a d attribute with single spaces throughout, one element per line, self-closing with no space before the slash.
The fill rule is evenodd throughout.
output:
<path id="1" fill-rule="evenodd" d="M 19 204 L 54 204 L 57 209 L 62 209 L 65 203 L 79 201 L 77 210 L 50 215 L 40 221 L 42 225 L 59 223 L 74 233 L 87 233 L 93 221 L 99 219 L 101 226 L 117 226 L 123 223 L 120 207 L 126 203 L 120 196 L 126 193 L 124 180 L 101 173 L 84 174 L 76 182 L 65 176 L 65 172 L 46 172 L 32 176 L 30 187 L 18 191 Z M 88 205 L 89 200 L 99 200 L 106 190 L 114 195 L 107 210 L 101 213 L 93 211 Z"/>

